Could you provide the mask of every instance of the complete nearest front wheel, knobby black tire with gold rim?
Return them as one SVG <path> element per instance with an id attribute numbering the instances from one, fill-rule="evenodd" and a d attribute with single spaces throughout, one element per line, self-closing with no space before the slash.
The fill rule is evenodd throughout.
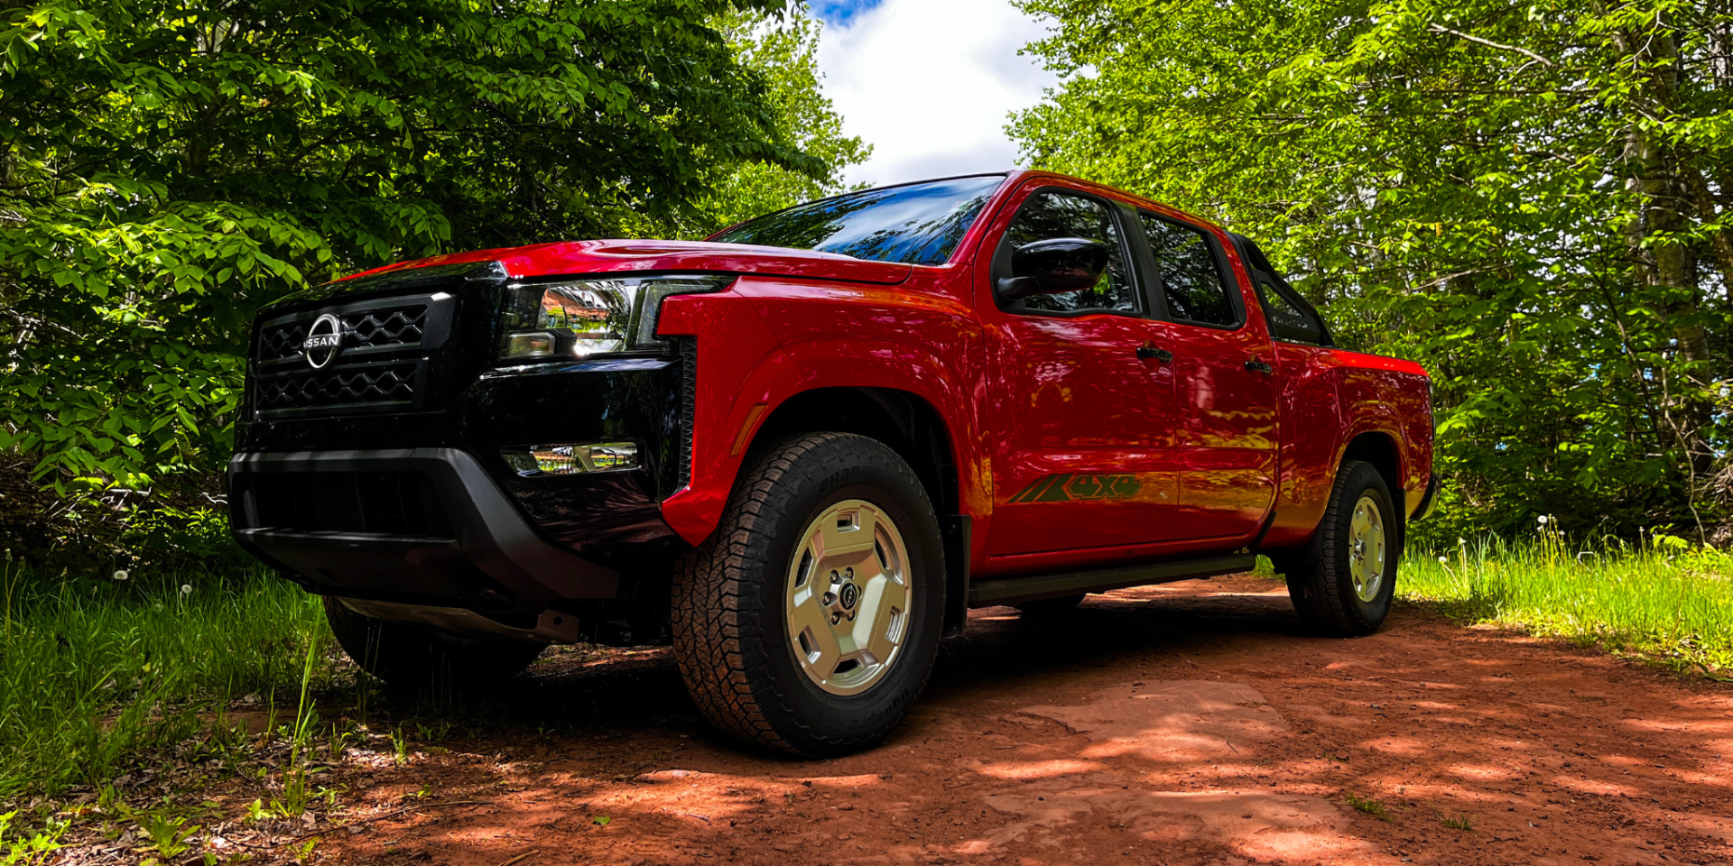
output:
<path id="1" fill-rule="evenodd" d="M 747 743 L 841 755 L 908 715 L 944 617 L 939 521 L 889 447 L 813 433 L 766 450 L 672 587 L 698 710 Z"/>

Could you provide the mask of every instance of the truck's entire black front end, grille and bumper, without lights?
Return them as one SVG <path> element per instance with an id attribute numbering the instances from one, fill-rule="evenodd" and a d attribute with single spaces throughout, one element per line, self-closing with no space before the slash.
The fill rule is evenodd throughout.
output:
<path id="1" fill-rule="evenodd" d="M 497 367 L 506 281 L 497 263 L 395 270 L 260 315 L 229 464 L 243 547 L 369 617 L 442 630 L 572 639 L 574 613 L 665 599 L 686 544 L 660 502 L 690 478 L 697 345 Z M 326 326 L 340 346 L 310 355 Z M 503 457 L 589 442 L 643 462 L 542 475 Z"/>

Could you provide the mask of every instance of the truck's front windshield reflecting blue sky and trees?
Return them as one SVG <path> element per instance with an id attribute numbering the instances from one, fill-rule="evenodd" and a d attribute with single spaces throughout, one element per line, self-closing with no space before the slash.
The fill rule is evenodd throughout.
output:
<path id="1" fill-rule="evenodd" d="M 979 175 L 865 189 L 768 213 L 711 241 L 943 265 L 1003 182 L 1005 175 Z"/>

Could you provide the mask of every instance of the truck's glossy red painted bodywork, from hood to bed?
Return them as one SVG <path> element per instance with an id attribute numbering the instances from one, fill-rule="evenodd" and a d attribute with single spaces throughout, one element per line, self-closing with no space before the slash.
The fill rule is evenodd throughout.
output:
<path id="1" fill-rule="evenodd" d="M 1244 322 L 1213 329 L 1000 310 L 993 251 L 1035 187 L 1087 191 L 1213 234 L 1229 249 Z M 1225 553 L 1260 532 L 1265 549 L 1301 544 L 1360 435 L 1386 436 L 1400 456 L 1409 511 L 1431 473 L 1425 369 L 1272 343 L 1222 229 L 1061 175 L 1012 173 L 939 267 L 742 244 L 579 241 L 388 268 L 458 262 L 503 262 L 513 277 L 742 274 L 728 291 L 669 298 L 659 320 L 660 334 L 693 336 L 698 346 L 691 485 L 662 502 L 667 523 L 691 544 L 721 520 L 747 449 L 730 450 L 747 421 L 754 430 L 742 442 L 815 388 L 899 390 L 936 412 L 957 468 L 958 509 L 972 518 L 977 577 Z M 1142 345 L 1175 357 L 1144 360 Z M 1251 371 L 1248 360 L 1274 372 Z M 761 404 L 768 410 L 754 416 Z M 1066 495 L 1047 495 L 1054 490 Z"/>

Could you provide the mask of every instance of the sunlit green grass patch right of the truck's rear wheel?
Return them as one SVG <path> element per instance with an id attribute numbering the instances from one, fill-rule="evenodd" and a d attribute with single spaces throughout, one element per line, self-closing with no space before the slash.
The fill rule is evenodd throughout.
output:
<path id="1" fill-rule="evenodd" d="M 1542 532 L 1414 551 L 1397 592 L 1475 624 L 1691 669 L 1733 672 L 1733 556 L 1655 537 L 1582 544 Z"/>

